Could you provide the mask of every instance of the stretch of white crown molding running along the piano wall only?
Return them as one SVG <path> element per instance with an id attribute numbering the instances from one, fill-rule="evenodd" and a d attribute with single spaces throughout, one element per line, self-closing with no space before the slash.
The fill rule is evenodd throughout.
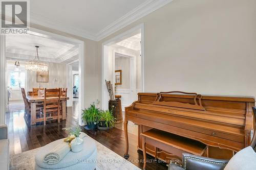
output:
<path id="1" fill-rule="evenodd" d="M 96 34 L 97 41 L 102 40 L 105 37 L 123 29 L 124 27 L 130 25 L 136 20 L 154 12 L 155 10 L 165 6 L 166 4 L 172 2 L 173 0 L 148 0 L 145 3 L 139 5 L 129 13 L 120 17 L 116 21 L 112 22 L 109 26 L 102 29 Z"/>

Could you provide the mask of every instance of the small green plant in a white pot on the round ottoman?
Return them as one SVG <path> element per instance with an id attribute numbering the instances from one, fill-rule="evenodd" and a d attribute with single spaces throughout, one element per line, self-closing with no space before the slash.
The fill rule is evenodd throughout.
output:
<path id="1" fill-rule="evenodd" d="M 77 127 L 69 127 L 69 128 L 63 128 L 63 130 L 69 131 L 69 137 L 74 136 L 75 138 L 70 142 L 71 145 L 71 151 L 72 152 L 80 152 L 83 148 L 83 139 L 79 137 L 81 133 L 81 128 L 79 126 Z M 72 138 L 71 138 L 72 139 Z"/>

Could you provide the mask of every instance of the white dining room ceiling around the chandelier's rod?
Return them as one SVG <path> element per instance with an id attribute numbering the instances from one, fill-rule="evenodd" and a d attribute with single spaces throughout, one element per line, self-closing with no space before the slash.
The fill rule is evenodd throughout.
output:
<path id="1" fill-rule="evenodd" d="M 35 45 L 41 61 L 70 63 L 78 60 L 78 45 L 33 34 L 6 36 L 6 57 L 10 60 L 31 61 L 35 58 Z"/>

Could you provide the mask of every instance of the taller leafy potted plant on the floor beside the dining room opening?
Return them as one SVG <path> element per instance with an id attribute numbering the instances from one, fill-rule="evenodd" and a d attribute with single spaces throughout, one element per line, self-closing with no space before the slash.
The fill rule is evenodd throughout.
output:
<path id="1" fill-rule="evenodd" d="M 87 123 L 88 129 L 96 129 L 99 116 L 98 100 L 87 109 L 82 110 L 82 120 Z"/>

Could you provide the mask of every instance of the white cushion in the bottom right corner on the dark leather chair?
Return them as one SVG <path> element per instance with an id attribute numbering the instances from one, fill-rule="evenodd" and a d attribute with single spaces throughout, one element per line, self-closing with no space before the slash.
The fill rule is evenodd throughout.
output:
<path id="1" fill-rule="evenodd" d="M 256 169 L 256 153 L 247 147 L 234 155 L 224 170 L 252 170 Z"/>

